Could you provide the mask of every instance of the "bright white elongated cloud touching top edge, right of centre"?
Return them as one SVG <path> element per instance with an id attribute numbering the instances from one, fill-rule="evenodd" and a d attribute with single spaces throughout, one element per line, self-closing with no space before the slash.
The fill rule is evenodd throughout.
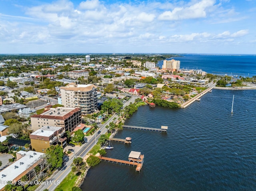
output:
<path id="1" fill-rule="evenodd" d="M 172 11 L 166 11 L 158 17 L 159 20 L 184 20 L 205 18 L 207 9 L 214 6 L 215 0 L 202 0 L 191 6 L 176 7 Z"/>

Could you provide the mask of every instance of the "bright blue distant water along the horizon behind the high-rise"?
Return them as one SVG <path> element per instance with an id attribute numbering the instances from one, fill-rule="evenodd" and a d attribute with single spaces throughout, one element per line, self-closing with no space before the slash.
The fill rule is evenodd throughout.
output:
<path id="1" fill-rule="evenodd" d="M 180 61 L 180 68 L 202 69 L 207 73 L 222 75 L 232 73 L 238 77 L 256 76 L 256 55 L 184 54 L 181 56 L 173 57 Z M 160 61 L 158 65 L 162 67 L 163 61 Z"/>

